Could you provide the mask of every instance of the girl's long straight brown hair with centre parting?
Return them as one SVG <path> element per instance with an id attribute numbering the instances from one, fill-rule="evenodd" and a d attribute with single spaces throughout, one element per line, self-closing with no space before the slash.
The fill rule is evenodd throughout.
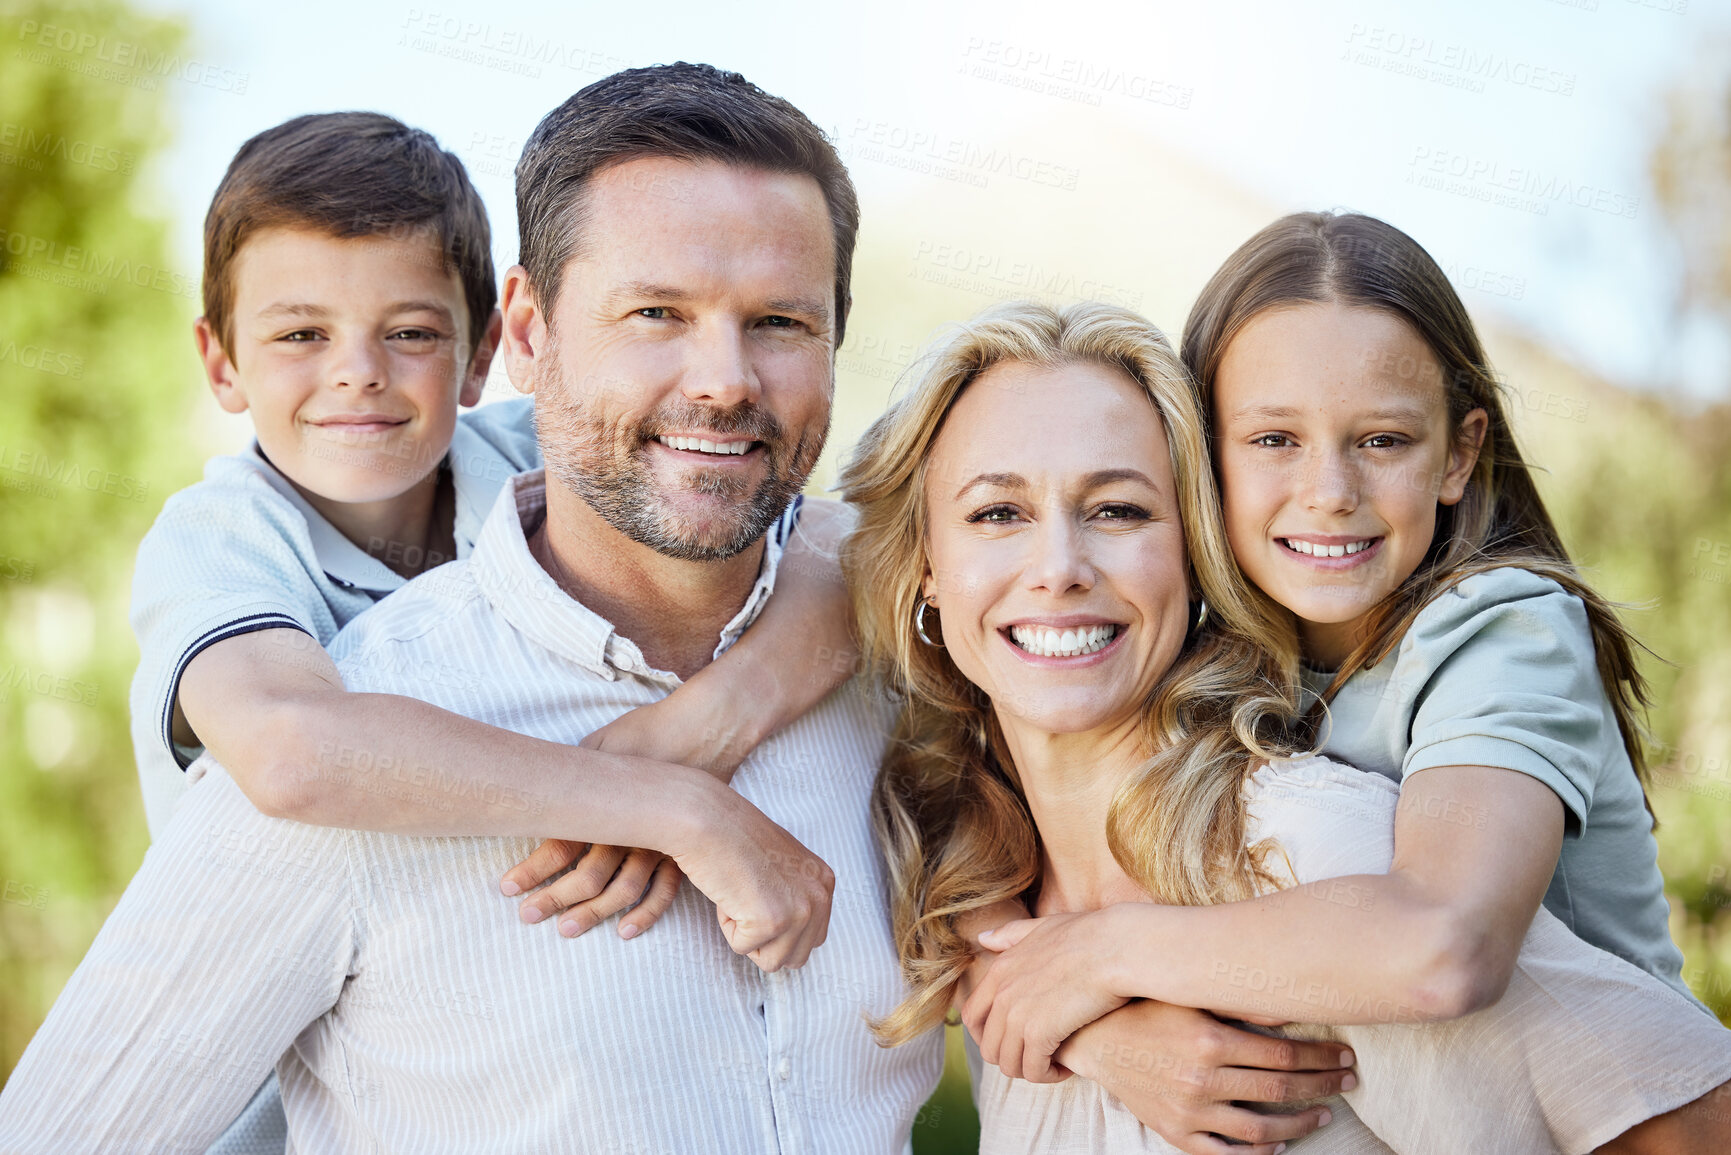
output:
<path id="1" fill-rule="evenodd" d="M 1648 689 L 1634 660 L 1643 646 L 1617 618 L 1612 603 L 1575 570 L 1539 499 L 1532 468 L 1515 443 L 1503 386 L 1466 306 L 1418 241 L 1362 213 L 1293 213 L 1245 241 L 1203 286 L 1184 324 L 1184 365 L 1201 390 L 1203 409 L 1212 412 L 1213 381 L 1226 346 L 1253 317 L 1286 305 L 1336 301 L 1378 308 L 1412 326 L 1442 367 L 1438 384 L 1456 428 L 1473 409 L 1483 409 L 1489 429 L 1466 495 L 1456 506 L 1437 507 L 1430 552 L 1371 611 L 1364 641 L 1335 672 L 1324 701 L 1348 677 L 1387 658 L 1444 590 L 1475 573 L 1516 566 L 1551 578 L 1586 606 L 1599 681 L 1617 715 L 1629 764 L 1644 788 Z M 1255 597 L 1281 623 L 1276 649 L 1295 655 L 1291 613 L 1260 590 Z M 1316 712 L 1312 720 L 1319 719 Z"/>

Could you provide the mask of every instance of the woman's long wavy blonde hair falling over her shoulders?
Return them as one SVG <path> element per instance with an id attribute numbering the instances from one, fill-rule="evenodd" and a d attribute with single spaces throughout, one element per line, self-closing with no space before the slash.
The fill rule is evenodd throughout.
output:
<path id="1" fill-rule="evenodd" d="M 886 1044 L 943 1018 L 971 951 L 968 911 L 1023 897 L 1039 881 L 1039 831 L 992 701 L 942 648 L 914 637 L 926 563 L 926 466 L 956 398 L 987 369 L 1091 362 L 1148 393 L 1172 452 L 1191 589 L 1208 603 L 1172 668 L 1142 703 L 1148 760 L 1113 798 L 1101 831 L 1113 857 L 1162 902 L 1229 902 L 1265 878 L 1245 847 L 1241 784 L 1262 758 L 1297 746 L 1295 691 L 1281 670 L 1295 655 L 1239 577 L 1226 544 L 1208 461 L 1208 428 L 1182 362 L 1142 317 L 1101 303 L 994 306 L 961 324 L 923 360 L 841 469 L 859 509 L 841 565 L 860 642 L 900 698 L 895 739 L 872 795 L 888 861 L 890 906 L 909 997 L 874 1023 Z"/>

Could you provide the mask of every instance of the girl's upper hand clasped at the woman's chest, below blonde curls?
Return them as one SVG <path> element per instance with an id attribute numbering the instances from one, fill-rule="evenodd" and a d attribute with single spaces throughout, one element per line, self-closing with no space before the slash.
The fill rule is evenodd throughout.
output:
<path id="1" fill-rule="evenodd" d="M 980 945 L 999 952 L 962 1008 L 980 1056 L 1009 1079 L 1070 1077 L 1052 1063 L 1058 1048 L 1132 997 L 1108 980 L 1118 940 L 1106 911 L 1028 918 L 980 935 Z"/>

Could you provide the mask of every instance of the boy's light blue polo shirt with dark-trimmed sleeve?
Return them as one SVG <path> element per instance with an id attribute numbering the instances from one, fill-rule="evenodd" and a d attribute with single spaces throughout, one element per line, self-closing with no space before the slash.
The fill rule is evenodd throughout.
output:
<path id="1" fill-rule="evenodd" d="M 445 464 L 464 558 L 504 483 L 542 464 L 533 398 L 464 412 Z M 325 646 L 405 580 L 325 521 L 256 442 L 244 454 L 213 457 L 203 481 L 168 499 L 138 544 L 132 580 L 138 636 L 132 745 L 152 838 L 185 793 L 183 769 L 199 753 L 177 748 L 170 732 L 187 663 L 206 646 L 253 630 L 296 629 L 308 646 Z"/>

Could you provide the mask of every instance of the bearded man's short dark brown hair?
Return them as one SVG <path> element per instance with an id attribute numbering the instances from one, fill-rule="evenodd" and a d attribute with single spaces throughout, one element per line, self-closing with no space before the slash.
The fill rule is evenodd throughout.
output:
<path id="1" fill-rule="evenodd" d="M 824 190 L 836 241 L 836 346 L 846 336 L 859 197 L 834 145 L 805 113 L 739 73 L 658 64 L 604 76 L 547 113 L 518 161 L 518 260 L 542 312 L 578 251 L 583 190 L 601 170 L 646 156 L 805 173 Z"/>

